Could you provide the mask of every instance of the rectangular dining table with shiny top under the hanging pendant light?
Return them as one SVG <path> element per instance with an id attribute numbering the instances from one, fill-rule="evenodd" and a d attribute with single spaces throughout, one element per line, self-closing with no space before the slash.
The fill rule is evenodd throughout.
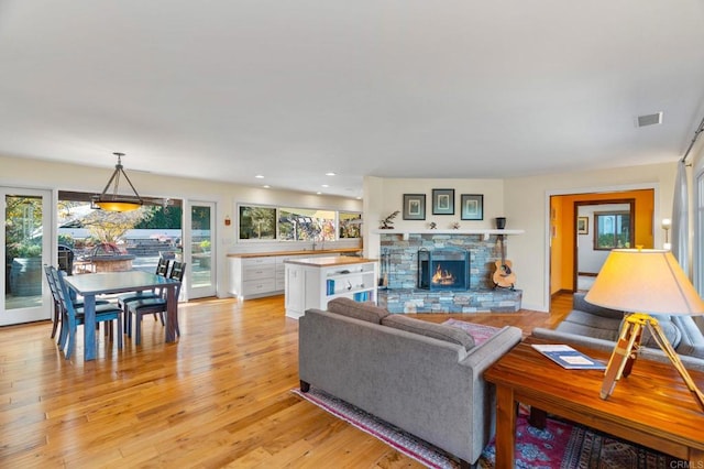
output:
<path id="1" fill-rule="evenodd" d="M 66 285 L 84 301 L 84 359 L 96 359 L 96 296 L 125 292 L 144 292 L 154 288 L 166 290 L 166 342 L 176 341 L 178 325 L 177 290 L 180 282 L 163 275 L 131 270 L 123 272 L 100 272 L 65 276 Z M 120 331 L 122 334 L 122 331 Z"/>

